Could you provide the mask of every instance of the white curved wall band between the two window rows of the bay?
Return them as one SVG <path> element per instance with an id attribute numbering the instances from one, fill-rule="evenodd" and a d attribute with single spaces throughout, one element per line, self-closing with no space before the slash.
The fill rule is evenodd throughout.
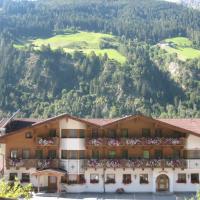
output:
<path id="1" fill-rule="evenodd" d="M 61 138 L 61 150 L 85 150 L 85 139 L 83 138 Z"/>

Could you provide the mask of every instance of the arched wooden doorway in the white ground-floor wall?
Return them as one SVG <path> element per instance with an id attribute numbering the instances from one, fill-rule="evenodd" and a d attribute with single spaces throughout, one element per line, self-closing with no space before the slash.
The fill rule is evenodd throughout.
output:
<path id="1" fill-rule="evenodd" d="M 156 191 L 168 192 L 169 191 L 169 177 L 165 174 L 161 174 L 156 179 Z"/>

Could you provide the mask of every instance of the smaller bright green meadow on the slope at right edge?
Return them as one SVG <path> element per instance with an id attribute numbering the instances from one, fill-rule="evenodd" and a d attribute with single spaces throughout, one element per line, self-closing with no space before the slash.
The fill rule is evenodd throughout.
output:
<path id="1" fill-rule="evenodd" d="M 200 57 L 200 50 L 192 47 L 192 42 L 185 37 L 169 38 L 164 40 L 170 46 L 163 47 L 169 53 L 176 53 L 180 60 L 194 59 Z"/>

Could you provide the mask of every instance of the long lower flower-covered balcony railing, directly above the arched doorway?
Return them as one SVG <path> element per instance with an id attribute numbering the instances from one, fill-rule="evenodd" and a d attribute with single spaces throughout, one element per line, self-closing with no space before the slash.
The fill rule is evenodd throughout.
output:
<path id="1" fill-rule="evenodd" d="M 187 160 L 167 159 L 90 159 L 86 161 L 86 168 L 187 168 Z"/>

